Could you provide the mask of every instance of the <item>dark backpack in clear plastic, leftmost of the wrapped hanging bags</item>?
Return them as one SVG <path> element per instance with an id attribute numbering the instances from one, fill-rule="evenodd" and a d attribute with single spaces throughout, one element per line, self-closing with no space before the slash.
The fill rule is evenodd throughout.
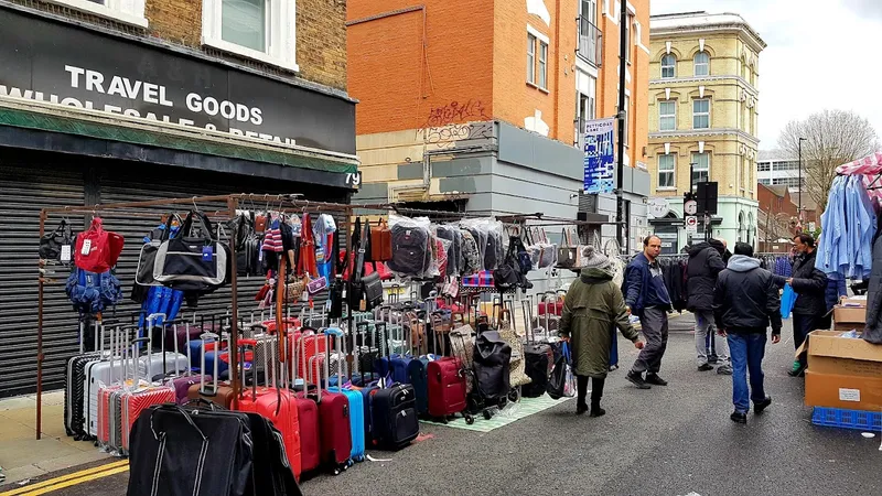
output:
<path id="1" fill-rule="evenodd" d="M 409 218 L 389 215 L 392 259 L 386 266 L 401 278 L 431 277 L 431 223 L 426 217 Z"/>

